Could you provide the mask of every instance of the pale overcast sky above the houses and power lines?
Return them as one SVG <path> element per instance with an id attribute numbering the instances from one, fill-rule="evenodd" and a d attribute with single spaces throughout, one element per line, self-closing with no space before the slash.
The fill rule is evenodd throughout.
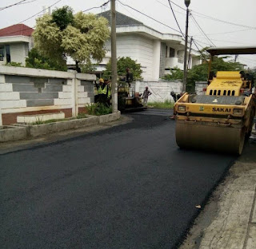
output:
<path id="1" fill-rule="evenodd" d="M 22 0 L 0 1 L 0 29 L 22 22 L 41 11 L 43 6 L 51 6 L 58 2 L 58 0 L 26 0 L 23 4 L 1 10 L 1 7 L 10 6 L 20 1 Z M 87 10 L 91 7 L 101 6 L 104 2 L 107 2 L 107 0 L 59 0 L 59 2 L 52 7 L 52 10 L 56 7 L 68 5 L 71 6 L 74 9 L 74 13 L 76 13 L 79 10 Z M 175 30 L 178 30 L 178 26 L 170 10 L 168 0 L 120 0 L 120 2 L 149 15 L 151 18 L 154 18 L 167 26 L 173 27 Z M 120 2 L 117 0 L 116 9 L 119 12 L 122 12 L 122 14 L 126 14 L 131 18 L 136 18 L 146 26 L 150 26 L 162 33 L 177 34 L 174 30 L 171 30 L 166 26 L 162 26 L 158 22 L 154 22 L 152 19 L 130 9 L 130 7 L 122 6 Z M 186 7 L 184 0 L 172 0 L 172 2 L 182 8 Z M 172 6 L 178 19 L 178 23 L 182 28 L 182 32 L 185 32 L 186 11 L 174 4 L 172 4 Z M 216 46 L 256 46 L 255 0 L 191 0 L 189 8 L 194 17 L 194 19 L 190 17 L 189 35 L 193 36 L 199 45 L 210 46 L 214 44 Z M 105 8 L 90 10 L 90 12 L 97 14 L 106 10 L 110 10 L 110 3 L 107 4 Z M 30 18 L 22 23 L 27 26 L 34 27 L 35 19 L 38 18 L 39 15 L 40 14 L 37 14 L 34 18 Z M 214 19 L 219 19 L 225 22 L 219 22 Z M 195 22 L 198 22 L 202 31 L 198 29 Z M 232 22 L 237 25 L 226 22 Z M 207 34 L 213 44 L 210 43 L 202 32 Z M 202 47 L 199 46 L 199 48 L 201 49 Z M 194 49 L 196 48 L 194 47 Z M 238 61 L 250 67 L 255 67 L 256 55 L 241 55 L 238 57 Z"/>

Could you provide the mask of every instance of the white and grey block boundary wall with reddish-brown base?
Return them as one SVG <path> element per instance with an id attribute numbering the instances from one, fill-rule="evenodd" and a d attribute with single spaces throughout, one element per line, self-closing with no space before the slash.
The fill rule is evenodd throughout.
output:
<path id="1" fill-rule="evenodd" d="M 95 75 L 0 66 L 0 125 L 14 124 L 18 115 L 65 113 L 94 102 Z"/>

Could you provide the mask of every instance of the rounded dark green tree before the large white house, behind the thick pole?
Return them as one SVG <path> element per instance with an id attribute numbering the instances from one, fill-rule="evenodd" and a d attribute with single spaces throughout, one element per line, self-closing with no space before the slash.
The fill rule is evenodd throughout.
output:
<path id="1" fill-rule="evenodd" d="M 117 61 L 118 76 L 125 76 L 126 69 L 130 68 L 130 72 L 133 73 L 134 77 L 142 77 L 142 65 L 134 61 L 130 57 L 118 57 Z M 103 73 L 104 77 L 111 75 L 111 59 L 106 64 L 106 70 Z"/>

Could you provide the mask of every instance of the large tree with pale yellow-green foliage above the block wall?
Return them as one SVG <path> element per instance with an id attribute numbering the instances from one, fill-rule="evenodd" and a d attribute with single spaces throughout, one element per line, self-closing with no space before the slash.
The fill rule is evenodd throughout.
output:
<path id="1" fill-rule="evenodd" d="M 64 6 L 37 19 L 33 38 L 42 56 L 59 63 L 70 56 L 80 71 L 79 64 L 90 63 L 91 58 L 102 61 L 110 30 L 106 18 L 82 12 L 73 14 L 69 6 Z"/>

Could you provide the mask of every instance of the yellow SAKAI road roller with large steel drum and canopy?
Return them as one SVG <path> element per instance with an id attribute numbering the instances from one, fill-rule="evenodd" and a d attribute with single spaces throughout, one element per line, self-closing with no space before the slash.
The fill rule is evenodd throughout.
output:
<path id="1" fill-rule="evenodd" d="M 210 63 L 221 54 L 254 54 L 256 47 L 210 48 Z M 255 116 L 253 77 L 242 72 L 210 72 L 205 95 L 185 93 L 174 105 L 180 148 L 241 154 Z"/>

